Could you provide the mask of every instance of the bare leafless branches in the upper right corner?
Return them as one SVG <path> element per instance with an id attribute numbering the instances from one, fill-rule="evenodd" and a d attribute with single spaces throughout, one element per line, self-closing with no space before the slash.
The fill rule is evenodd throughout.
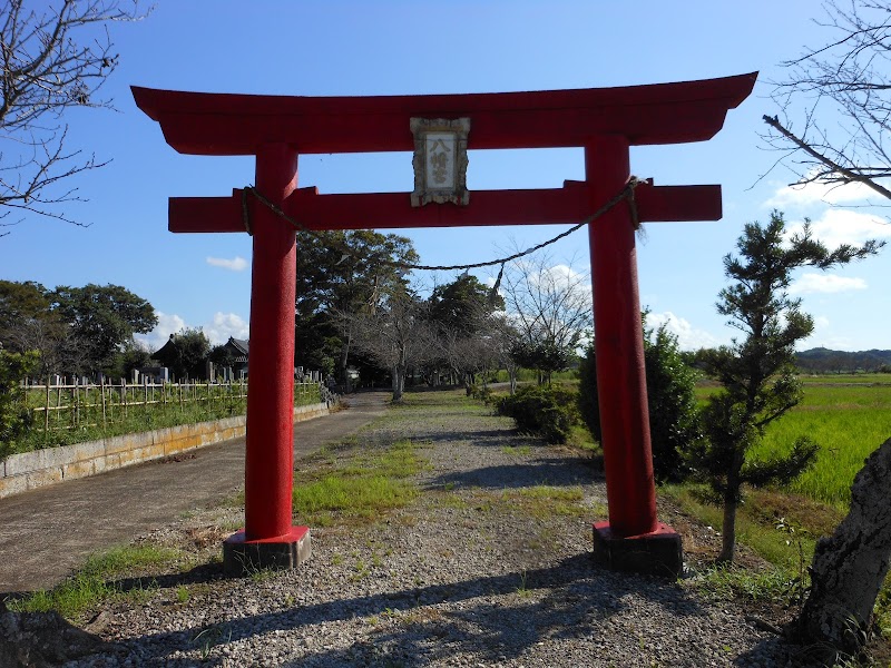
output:
<path id="1" fill-rule="evenodd" d="M 891 199 L 882 183 L 891 176 L 891 2 L 829 0 L 823 9 L 816 22 L 831 41 L 784 63 L 789 78 L 773 91 L 782 111 L 764 116 L 764 137 L 797 184 L 858 183 Z"/>

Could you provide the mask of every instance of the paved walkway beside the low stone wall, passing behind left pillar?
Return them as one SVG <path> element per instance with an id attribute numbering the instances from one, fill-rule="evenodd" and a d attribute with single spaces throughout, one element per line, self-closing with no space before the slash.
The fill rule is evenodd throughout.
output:
<path id="1" fill-rule="evenodd" d="M 386 392 L 354 394 L 350 409 L 294 425 L 294 458 L 343 439 L 386 410 Z M 0 499 L 0 592 L 48 588 L 85 558 L 207 508 L 244 487 L 244 439 Z"/>

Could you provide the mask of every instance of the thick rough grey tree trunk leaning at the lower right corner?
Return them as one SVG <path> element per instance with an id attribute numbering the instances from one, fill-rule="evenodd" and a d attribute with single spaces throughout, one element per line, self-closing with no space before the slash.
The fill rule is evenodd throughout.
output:
<path id="1" fill-rule="evenodd" d="M 811 593 L 794 622 L 801 641 L 856 655 L 891 560 L 891 439 L 870 455 L 851 487 L 851 510 L 831 538 L 821 538 Z"/>

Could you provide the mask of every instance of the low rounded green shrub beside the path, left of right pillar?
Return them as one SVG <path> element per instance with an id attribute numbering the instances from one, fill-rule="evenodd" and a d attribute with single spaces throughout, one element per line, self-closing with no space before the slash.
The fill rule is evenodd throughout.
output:
<path id="1" fill-rule="evenodd" d="M 498 402 L 499 415 L 513 418 L 517 428 L 549 443 L 566 443 L 579 422 L 576 392 L 560 385 L 525 386 Z"/>

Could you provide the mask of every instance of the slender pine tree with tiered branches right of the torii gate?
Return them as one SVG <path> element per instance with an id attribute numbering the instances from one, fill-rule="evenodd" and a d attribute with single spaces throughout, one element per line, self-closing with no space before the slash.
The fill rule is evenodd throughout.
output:
<path id="1" fill-rule="evenodd" d="M 774 212 L 766 226 L 747 224 L 736 243 L 738 257 L 724 258 L 733 281 L 721 291 L 717 311 L 727 324 L 744 333 L 708 361 L 709 375 L 722 385 L 703 410 L 705 438 L 689 451 L 688 461 L 724 507 L 719 561 L 732 561 L 736 542 L 736 509 L 744 484 L 786 483 L 806 470 L 817 445 L 801 436 L 785 455 L 751 460 L 748 453 L 772 422 L 801 401 L 795 375 L 795 344 L 811 335 L 813 318 L 801 311 L 801 299 L 789 296 L 795 269 L 845 265 L 875 255 L 883 244 L 842 245 L 829 250 L 803 229 L 787 237 L 783 215 Z"/>

